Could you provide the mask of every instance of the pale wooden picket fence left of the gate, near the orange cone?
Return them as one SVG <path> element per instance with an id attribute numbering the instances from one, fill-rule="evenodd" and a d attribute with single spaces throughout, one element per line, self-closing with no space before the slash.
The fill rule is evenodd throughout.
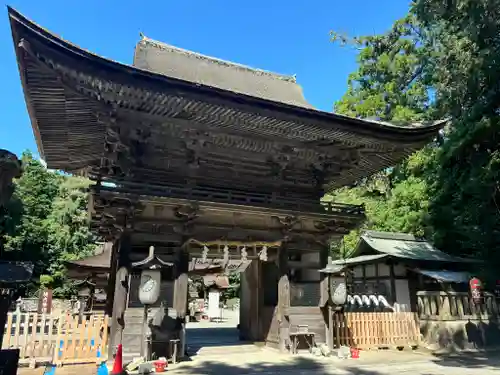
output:
<path id="1" fill-rule="evenodd" d="M 2 349 L 20 350 L 20 363 L 92 363 L 107 355 L 108 316 L 9 313 Z"/>

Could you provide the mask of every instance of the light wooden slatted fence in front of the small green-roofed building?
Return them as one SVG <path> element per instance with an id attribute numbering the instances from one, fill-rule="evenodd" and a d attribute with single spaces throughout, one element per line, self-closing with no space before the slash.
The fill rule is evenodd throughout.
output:
<path id="1" fill-rule="evenodd" d="M 375 349 L 420 343 L 418 317 L 411 312 L 336 312 L 332 328 L 337 347 Z"/>

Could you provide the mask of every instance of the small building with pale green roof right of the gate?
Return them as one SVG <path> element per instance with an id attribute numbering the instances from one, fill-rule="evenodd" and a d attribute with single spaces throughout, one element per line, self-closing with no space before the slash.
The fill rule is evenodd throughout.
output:
<path id="1" fill-rule="evenodd" d="M 361 235 L 353 255 L 333 263 L 348 266 L 347 309 L 361 311 L 416 312 L 418 291 L 449 289 L 450 284 L 466 291 L 474 262 L 445 254 L 411 234 L 376 231 Z"/>

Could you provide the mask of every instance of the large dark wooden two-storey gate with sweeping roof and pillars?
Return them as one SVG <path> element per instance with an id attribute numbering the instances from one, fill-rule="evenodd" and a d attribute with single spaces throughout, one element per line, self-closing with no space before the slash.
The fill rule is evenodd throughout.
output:
<path id="1" fill-rule="evenodd" d="M 148 38 L 134 65 L 122 65 L 11 8 L 9 18 L 41 157 L 95 181 L 92 228 L 112 245 L 110 348 L 123 339 L 132 264 L 150 246 L 172 286 L 165 299 L 179 327 L 190 259 L 226 257 L 251 261 L 244 338 L 284 348 L 291 327 L 311 316 L 321 335 L 318 270 L 330 241 L 364 218 L 360 206 L 320 203 L 324 186 L 394 165 L 443 125 L 398 128 L 317 111 L 294 77 Z"/>

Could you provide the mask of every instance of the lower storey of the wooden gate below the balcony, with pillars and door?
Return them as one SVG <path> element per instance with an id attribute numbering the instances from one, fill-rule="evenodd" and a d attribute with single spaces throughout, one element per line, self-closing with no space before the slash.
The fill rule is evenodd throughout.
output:
<path id="1" fill-rule="evenodd" d="M 104 217 L 105 209 L 107 214 L 119 215 L 121 208 L 114 205 L 125 194 L 120 193 L 112 200 L 115 194 L 101 191 L 99 198 L 97 194 L 94 195 L 96 216 Z M 104 201 L 103 196 L 111 199 Z M 127 279 L 134 268 L 130 265 L 146 256 L 143 246 L 133 247 L 131 244 L 145 241 L 143 238 L 148 241 L 154 238 L 158 256 L 165 264 L 172 264 L 171 268 L 167 267 L 171 272 L 166 272 L 164 276 L 167 283 L 169 280 L 173 282 L 172 300 L 166 302 L 176 312 L 179 322 L 184 322 L 186 315 L 190 259 L 217 258 L 222 260 L 222 265 L 229 260 L 239 259 L 249 264 L 242 272 L 240 334 L 243 339 L 267 341 L 270 345 L 285 348 L 289 341 L 287 330 L 307 321 L 311 323 L 311 328 L 314 327 L 318 337 L 324 337 L 324 319 L 319 306 L 321 298 L 326 297 L 322 296 L 322 277 L 318 270 L 322 264 L 326 264 L 328 240 L 336 233 L 332 229 L 316 228 L 321 223 L 328 223 L 323 219 L 324 213 L 316 216 L 309 212 L 296 217 L 286 215 L 286 211 L 282 213 L 284 210 L 273 210 L 271 213 L 274 215 L 270 215 L 268 208 L 238 207 L 235 214 L 231 207 L 224 207 L 223 204 L 203 201 L 196 204 L 182 203 L 173 198 L 155 199 L 156 208 L 145 205 L 140 212 L 135 213 L 134 231 L 127 237 L 122 235 L 117 242 L 118 260 L 116 271 L 111 270 L 111 275 L 117 275 L 112 313 L 113 322 L 118 324 L 112 326 L 112 338 L 118 341 L 122 336 L 124 328 L 119 325 L 121 313 L 126 313 L 127 301 L 130 306 L 129 293 L 135 293 L 135 287 L 127 291 Z M 352 225 L 363 214 L 359 207 L 331 207 L 351 210 L 344 215 L 352 221 Z M 146 218 L 149 212 L 161 213 L 162 216 Z M 161 232 L 156 229 L 151 234 L 151 231 L 142 229 L 145 225 L 158 223 L 163 226 Z M 176 233 L 179 228 L 182 231 Z M 338 235 L 343 233 L 345 231 Z M 252 238 L 258 240 L 252 241 Z M 168 241 L 168 247 L 161 246 L 161 239 Z M 178 242 L 175 242 L 176 239 Z M 130 246 L 130 250 L 125 246 Z M 126 259 L 121 258 L 124 254 L 127 254 Z M 300 261 L 304 254 L 312 260 Z M 292 261 L 290 258 L 297 260 Z M 120 262 L 128 262 L 128 266 L 122 266 Z M 294 271 L 308 271 L 309 275 Z M 302 311 L 302 308 L 305 310 Z M 275 332 L 278 332 L 277 336 Z"/>

